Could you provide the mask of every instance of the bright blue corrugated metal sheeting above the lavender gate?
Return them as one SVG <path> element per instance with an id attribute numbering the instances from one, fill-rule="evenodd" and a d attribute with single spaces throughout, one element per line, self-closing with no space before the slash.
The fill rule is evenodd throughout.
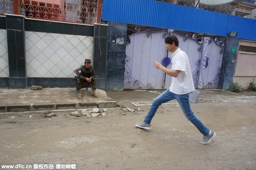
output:
<path id="1" fill-rule="evenodd" d="M 102 20 L 256 41 L 256 20 L 154 0 L 104 0 Z"/>

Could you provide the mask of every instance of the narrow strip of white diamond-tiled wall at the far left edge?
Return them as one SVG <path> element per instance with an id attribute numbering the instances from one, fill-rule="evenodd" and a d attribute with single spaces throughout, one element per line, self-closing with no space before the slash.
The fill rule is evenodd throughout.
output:
<path id="1" fill-rule="evenodd" d="M 0 77 L 9 77 L 7 31 L 0 29 Z"/>

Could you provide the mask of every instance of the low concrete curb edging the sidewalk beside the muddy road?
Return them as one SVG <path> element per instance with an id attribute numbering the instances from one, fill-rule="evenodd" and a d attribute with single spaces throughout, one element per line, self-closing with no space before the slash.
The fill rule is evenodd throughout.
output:
<path id="1" fill-rule="evenodd" d="M 1 104 L 0 112 L 36 112 L 69 109 L 115 108 L 116 101 L 98 101 L 91 103 L 36 103 L 36 104 Z"/>

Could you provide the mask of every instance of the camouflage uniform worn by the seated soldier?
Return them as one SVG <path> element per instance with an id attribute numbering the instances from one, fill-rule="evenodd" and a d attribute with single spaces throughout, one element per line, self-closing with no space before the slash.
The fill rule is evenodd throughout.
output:
<path id="1" fill-rule="evenodd" d="M 89 69 L 85 67 L 85 65 L 81 65 L 79 67 L 79 72 L 78 72 L 78 79 L 77 79 L 77 90 L 81 90 L 81 82 L 87 82 L 85 78 L 92 78 L 91 83 L 92 83 L 92 89 L 95 90 L 97 87 L 97 82 L 96 78 L 94 75 L 94 68 L 91 65 Z"/>

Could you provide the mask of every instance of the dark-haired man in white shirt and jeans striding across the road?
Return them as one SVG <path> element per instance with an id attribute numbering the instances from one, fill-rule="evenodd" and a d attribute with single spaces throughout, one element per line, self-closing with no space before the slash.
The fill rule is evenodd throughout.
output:
<path id="1" fill-rule="evenodd" d="M 158 62 L 154 62 L 157 69 L 161 69 L 164 73 L 172 76 L 171 86 L 158 97 L 153 100 L 152 106 L 141 124 L 136 124 L 139 128 L 151 129 L 150 122 L 154 117 L 158 107 L 165 102 L 176 99 L 182 109 L 185 117 L 195 125 L 195 127 L 204 135 L 200 143 L 207 144 L 216 135 L 213 131 L 209 130 L 205 125 L 195 116 L 189 104 L 189 93 L 194 88 L 189 59 L 187 54 L 180 50 L 179 40 L 176 35 L 170 35 L 165 39 L 166 48 L 172 52 L 172 67 L 167 69 Z"/>

